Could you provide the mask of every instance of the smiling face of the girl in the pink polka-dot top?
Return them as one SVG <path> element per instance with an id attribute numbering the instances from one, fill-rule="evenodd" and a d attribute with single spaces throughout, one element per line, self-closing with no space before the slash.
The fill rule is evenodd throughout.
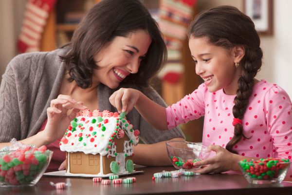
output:
<path id="1" fill-rule="evenodd" d="M 240 66 L 238 48 L 231 51 L 223 47 L 211 44 L 207 38 L 189 39 L 189 48 L 192 58 L 196 64 L 196 74 L 199 75 L 208 88 L 209 92 L 223 89 L 227 95 L 235 95 L 237 91 L 237 80 L 240 77 Z"/>

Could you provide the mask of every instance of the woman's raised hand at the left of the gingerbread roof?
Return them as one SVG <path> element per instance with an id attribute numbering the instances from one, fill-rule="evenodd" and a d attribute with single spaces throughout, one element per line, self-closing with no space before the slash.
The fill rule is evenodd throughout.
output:
<path id="1" fill-rule="evenodd" d="M 45 140 L 50 143 L 62 137 L 77 112 L 86 108 L 81 101 L 77 102 L 70 96 L 59 95 L 58 98 L 53 99 L 47 109 L 48 121 L 42 132 Z M 72 112 L 67 114 L 70 109 Z"/>

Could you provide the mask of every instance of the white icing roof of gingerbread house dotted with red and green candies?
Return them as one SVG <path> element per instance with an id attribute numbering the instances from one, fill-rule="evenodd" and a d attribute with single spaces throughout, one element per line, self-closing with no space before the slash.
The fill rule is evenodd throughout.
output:
<path id="1" fill-rule="evenodd" d="M 84 110 L 71 121 L 60 141 L 60 150 L 105 156 L 110 151 L 110 140 L 117 138 L 118 131 L 123 130 L 134 145 L 139 142 L 139 130 L 133 130 L 124 115 Z"/>

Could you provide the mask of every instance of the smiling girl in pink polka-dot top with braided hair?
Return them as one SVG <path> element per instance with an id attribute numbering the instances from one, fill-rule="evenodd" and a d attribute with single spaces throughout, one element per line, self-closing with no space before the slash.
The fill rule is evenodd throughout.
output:
<path id="1" fill-rule="evenodd" d="M 263 54 L 253 21 L 220 6 L 193 20 L 188 36 L 196 74 L 204 80 L 198 89 L 166 109 L 134 89 L 116 91 L 111 104 L 122 112 L 135 106 L 160 130 L 204 116 L 202 143 L 216 156 L 194 163 L 205 165 L 198 173 L 239 171 L 244 158 L 291 159 L 291 100 L 276 84 L 255 79 Z"/>

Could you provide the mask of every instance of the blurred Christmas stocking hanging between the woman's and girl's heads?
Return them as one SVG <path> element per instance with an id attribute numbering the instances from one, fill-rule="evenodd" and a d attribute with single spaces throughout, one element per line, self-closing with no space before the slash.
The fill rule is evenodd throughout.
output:
<path id="1" fill-rule="evenodd" d="M 195 3 L 196 0 L 161 0 L 160 2 L 158 23 L 164 35 L 168 58 L 159 77 L 169 83 L 177 83 L 183 73 L 181 50 Z"/>

